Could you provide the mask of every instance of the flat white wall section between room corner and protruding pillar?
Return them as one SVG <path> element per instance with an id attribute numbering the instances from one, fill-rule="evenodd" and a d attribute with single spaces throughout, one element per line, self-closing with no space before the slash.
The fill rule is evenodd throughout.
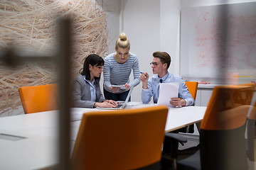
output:
<path id="1" fill-rule="evenodd" d="M 139 57 L 141 72 L 151 73 L 152 53 L 160 47 L 160 3 L 148 0 L 124 0 L 123 31 L 131 43 L 130 52 Z M 130 77 L 133 79 L 133 75 Z M 134 88 L 132 101 L 141 101 L 142 84 Z"/>

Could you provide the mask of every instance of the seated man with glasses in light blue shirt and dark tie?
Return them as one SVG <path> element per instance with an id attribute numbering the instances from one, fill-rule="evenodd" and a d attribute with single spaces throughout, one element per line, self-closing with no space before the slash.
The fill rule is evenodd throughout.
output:
<path id="1" fill-rule="evenodd" d="M 154 52 L 153 57 L 153 61 L 150 64 L 153 74 L 156 75 L 149 77 L 147 72 L 143 72 L 139 78 L 142 81 L 142 102 L 149 103 L 153 96 L 154 103 L 157 103 L 159 98 L 159 84 L 178 82 L 179 98 L 170 98 L 170 104 L 178 107 L 195 105 L 195 101 L 189 93 L 182 77 L 168 72 L 168 68 L 171 64 L 170 55 L 167 52 Z"/>

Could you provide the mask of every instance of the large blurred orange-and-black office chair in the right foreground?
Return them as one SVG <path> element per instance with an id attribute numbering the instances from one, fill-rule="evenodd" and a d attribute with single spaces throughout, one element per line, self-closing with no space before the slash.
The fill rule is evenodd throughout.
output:
<path id="1" fill-rule="evenodd" d="M 247 169 L 245 128 L 254 92 L 255 84 L 215 86 L 201 123 L 200 150 L 178 161 L 177 168 Z"/>

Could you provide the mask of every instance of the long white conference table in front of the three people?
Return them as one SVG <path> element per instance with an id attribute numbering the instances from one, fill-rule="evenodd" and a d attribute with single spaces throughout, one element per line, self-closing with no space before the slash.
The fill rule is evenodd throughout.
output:
<path id="1" fill-rule="evenodd" d="M 132 104 L 131 108 L 150 106 L 154 105 Z M 82 114 L 90 111 L 104 110 L 71 109 L 71 152 Z M 201 106 L 169 108 L 166 132 L 200 122 L 205 111 Z M 58 163 L 58 111 L 2 117 L 0 134 L 0 169 L 41 169 Z"/>

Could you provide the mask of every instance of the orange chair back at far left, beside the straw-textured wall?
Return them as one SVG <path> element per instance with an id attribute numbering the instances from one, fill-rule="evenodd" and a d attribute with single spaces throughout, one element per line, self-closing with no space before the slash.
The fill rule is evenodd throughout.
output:
<path id="1" fill-rule="evenodd" d="M 58 109 L 56 96 L 57 84 L 40 86 L 23 86 L 18 88 L 18 94 L 25 114 Z"/>

